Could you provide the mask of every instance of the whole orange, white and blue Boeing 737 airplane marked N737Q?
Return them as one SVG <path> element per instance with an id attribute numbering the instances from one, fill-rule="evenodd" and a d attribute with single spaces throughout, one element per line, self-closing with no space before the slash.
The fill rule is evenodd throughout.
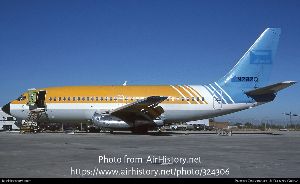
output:
<path id="1" fill-rule="evenodd" d="M 105 131 L 145 133 L 150 127 L 222 116 L 271 102 L 296 82 L 268 85 L 281 28 L 268 28 L 225 76 L 208 85 L 67 86 L 29 89 L 3 111 L 38 122 L 93 123 Z"/>

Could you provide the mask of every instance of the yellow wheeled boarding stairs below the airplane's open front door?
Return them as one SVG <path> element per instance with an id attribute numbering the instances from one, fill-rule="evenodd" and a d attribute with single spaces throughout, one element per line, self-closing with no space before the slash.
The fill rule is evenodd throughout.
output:
<path id="1" fill-rule="evenodd" d="M 45 112 L 45 109 L 41 108 L 40 111 L 30 111 L 28 114 L 28 117 L 26 118 L 25 122 L 22 124 L 22 127 L 20 128 L 20 132 L 35 132 L 34 129 L 37 125 L 38 120 L 40 119 L 41 115 Z"/>

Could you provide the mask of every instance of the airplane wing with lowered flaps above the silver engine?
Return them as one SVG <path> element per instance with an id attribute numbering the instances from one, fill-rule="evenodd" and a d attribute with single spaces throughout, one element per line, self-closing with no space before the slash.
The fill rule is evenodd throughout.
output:
<path id="1" fill-rule="evenodd" d="M 134 119 L 152 121 L 156 118 L 160 118 L 159 116 L 164 113 L 164 109 L 158 104 L 168 97 L 169 96 L 149 96 L 145 99 L 115 108 L 110 111 L 110 114 L 125 122 L 131 122 Z"/>

